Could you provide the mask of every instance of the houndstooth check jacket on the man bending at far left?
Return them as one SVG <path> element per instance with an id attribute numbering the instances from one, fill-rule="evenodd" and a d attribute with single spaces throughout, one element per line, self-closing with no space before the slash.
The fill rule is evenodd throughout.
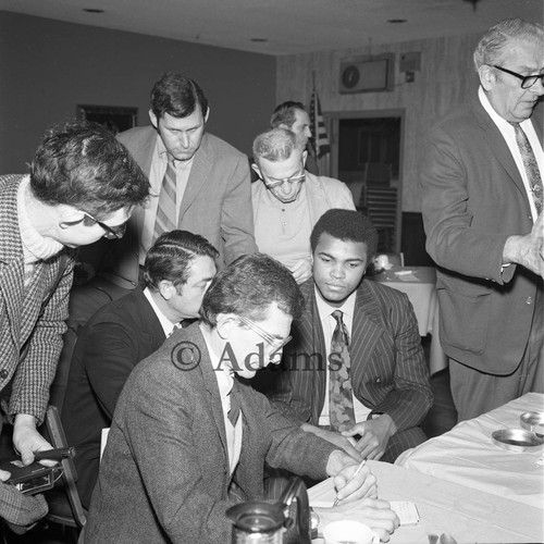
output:
<path id="1" fill-rule="evenodd" d="M 18 228 L 17 189 L 23 175 L 0 176 L 0 390 L 13 378 L 8 415 L 28 413 L 41 423 L 49 399 L 49 385 L 62 347 L 72 285 L 73 256 L 64 249 L 38 261 L 34 277 L 24 287 L 23 246 Z M 40 316 L 41 302 L 53 288 L 61 255 L 69 264 Z M 20 350 L 29 342 L 28 353 L 20 361 Z"/>

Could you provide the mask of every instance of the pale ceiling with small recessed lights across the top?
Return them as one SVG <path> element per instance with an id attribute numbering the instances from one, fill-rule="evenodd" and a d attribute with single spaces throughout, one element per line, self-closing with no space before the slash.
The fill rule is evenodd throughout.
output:
<path id="1" fill-rule="evenodd" d="M 505 17 L 544 18 L 542 0 L 0 0 L 0 10 L 273 55 L 371 52 L 373 45 L 483 33 Z"/>

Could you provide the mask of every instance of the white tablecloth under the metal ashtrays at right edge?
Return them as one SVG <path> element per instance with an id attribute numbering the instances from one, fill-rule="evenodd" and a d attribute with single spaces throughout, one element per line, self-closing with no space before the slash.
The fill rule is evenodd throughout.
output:
<path id="1" fill-rule="evenodd" d="M 542 509 L 544 449 L 510 452 L 494 444 L 491 435 L 520 429 L 521 413 L 543 410 L 544 395 L 528 393 L 405 452 L 396 465 Z"/>

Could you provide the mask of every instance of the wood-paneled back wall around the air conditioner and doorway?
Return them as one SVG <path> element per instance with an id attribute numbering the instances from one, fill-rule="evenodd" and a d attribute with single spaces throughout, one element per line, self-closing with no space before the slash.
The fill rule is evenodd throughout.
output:
<path id="1" fill-rule="evenodd" d="M 421 211 L 418 169 L 423 138 L 440 116 L 477 92 L 472 52 L 480 37 L 466 35 L 375 46 L 371 51 L 361 47 L 280 57 L 276 102 L 300 100 L 309 104 L 316 72 L 316 87 L 325 116 L 337 112 L 405 109 L 403 211 Z M 421 70 L 416 72 L 412 83 L 406 83 L 405 74 L 399 72 L 399 57 L 412 51 L 421 53 Z M 339 94 L 341 61 L 384 52 L 395 53 L 393 91 Z"/>

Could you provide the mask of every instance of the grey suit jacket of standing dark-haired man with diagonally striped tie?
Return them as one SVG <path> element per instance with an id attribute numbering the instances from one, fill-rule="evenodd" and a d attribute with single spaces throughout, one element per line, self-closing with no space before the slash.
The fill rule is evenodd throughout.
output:
<path id="1" fill-rule="evenodd" d="M 147 176 L 157 138 L 152 126 L 131 128 L 118 135 Z M 116 285 L 133 289 L 138 285 L 143 226 L 144 210 L 138 209 L 128 221 L 123 239 L 100 240 L 89 246 L 82 252 L 83 260 Z M 207 238 L 221 254 L 220 268 L 240 255 L 257 251 L 248 158 L 212 134 L 205 133 L 195 153 L 180 207 L 177 228 Z"/>

